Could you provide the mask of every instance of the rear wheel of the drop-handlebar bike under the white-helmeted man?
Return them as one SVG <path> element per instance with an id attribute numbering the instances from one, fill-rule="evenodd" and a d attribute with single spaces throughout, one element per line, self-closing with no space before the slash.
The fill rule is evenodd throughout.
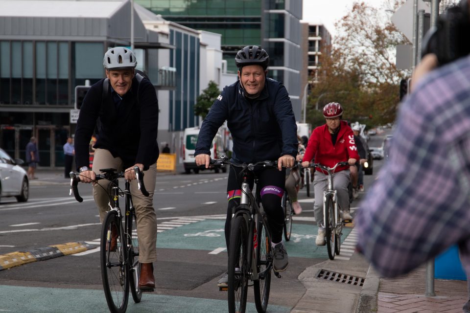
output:
<path id="1" fill-rule="evenodd" d="M 135 303 L 141 302 L 142 291 L 139 289 L 141 263 L 139 262 L 139 241 L 137 240 L 137 222 L 134 209 L 129 211 L 127 223 L 129 288 Z"/>

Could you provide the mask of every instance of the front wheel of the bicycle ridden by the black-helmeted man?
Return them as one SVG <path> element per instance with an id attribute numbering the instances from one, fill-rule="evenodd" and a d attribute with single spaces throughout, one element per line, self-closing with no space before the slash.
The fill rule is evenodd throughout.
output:
<path id="1" fill-rule="evenodd" d="M 246 296 L 248 291 L 247 261 L 247 236 L 246 222 L 243 216 L 235 217 L 230 231 L 229 249 L 229 283 L 228 304 L 229 313 L 244 313 L 246 308 Z"/>

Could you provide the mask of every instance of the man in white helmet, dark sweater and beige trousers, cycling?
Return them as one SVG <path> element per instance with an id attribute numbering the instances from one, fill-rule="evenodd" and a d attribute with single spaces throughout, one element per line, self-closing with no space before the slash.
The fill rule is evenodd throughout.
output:
<path id="1" fill-rule="evenodd" d="M 125 171 L 130 180 L 132 202 L 137 216 L 139 288 L 155 288 L 153 262 L 157 261 L 157 217 L 153 192 L 157 177 L 158 100 L 152 83 L 135 74 L 134 53 L 125 47 L 109 49 L 103 58 L 106 79 L 95 83 L 83 99 L 75 131 L 75 157 L 82 182 L 94 182 L 100 169 Z M 89 143 L 97 126 L 93 171 L 89 168 Z M 149 196 L 138 190 L 134 166 L 144 173 Z M 103 222 L 109 210 L 106 180 L 94 183 L 93 196 Z M 104 188 L 103 188 L 104 187 Z M 116 246 L 117 231 L 112 230 L 111 249 Z M 114 244 L 114 246 L 113 246 Z"/>

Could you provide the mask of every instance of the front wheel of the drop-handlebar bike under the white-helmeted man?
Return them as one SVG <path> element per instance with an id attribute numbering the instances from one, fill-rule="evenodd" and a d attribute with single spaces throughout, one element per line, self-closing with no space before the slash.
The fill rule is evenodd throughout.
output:
<path id="1" fill-rule="evenodd" d="M 111 246 L 118 233 L 117 244 Z M 111 210 L 101 228 L 101 278 L 108 308 L 112 313 L 124 313 L 129 299 L 128 269 L 125 266 L 125 241 L 118 213 Z"/>

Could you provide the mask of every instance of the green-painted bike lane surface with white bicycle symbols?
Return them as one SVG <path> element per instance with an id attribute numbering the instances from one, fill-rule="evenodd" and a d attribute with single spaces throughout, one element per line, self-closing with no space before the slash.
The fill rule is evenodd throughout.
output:
<path id="1" fill-rule="evenodd" d="M 225 221 L 221 219 L 199 218 L 194 220 L 177 219 L 159 224 L 158 251 L 159 249 L 160 251 L 182 249 L 187 250 L 188 255 L 190 255 L 191 250 L 202 250 L 207 251 L 208 258 L 211 254 L 226 253 L 224 223 Z M 316 225 L 294 223 L 292 230 L 291 241 L 286 242 L 291 264 L 296 262 L 296 258 L 328 259 L 326 247 L 315 246 Z M 350 232 L 351 228 L 344 228 L 342 241 L 347 238 Z M 70 257 L 72 256 L 62 258 Z M 14 268 L 9 270 L 14 270 Z M 168 273 L 168 275 L 171 275 L 171 273 Z M 249 293 L 252 292 L 252 288 L 250 288 Z M 158 290 L 154 293 L 145 293 L 139 304 L 134 304 L 130 296 L 127 312 L 227 312 L 226 300 L 157 293 Z M 287 313 L 292 309 L 291 307 L 272 305 L 271 303 L 272 301 L 270 301 L 268 311 L 272 313 Z M 250 302 L 247 306 L 247 312 L 256 312 L 254 303 Z M 3 285 L 0 286 L 1 312 L 100 313 L 108 312 L 108 308 L 102 290 Z"/>

